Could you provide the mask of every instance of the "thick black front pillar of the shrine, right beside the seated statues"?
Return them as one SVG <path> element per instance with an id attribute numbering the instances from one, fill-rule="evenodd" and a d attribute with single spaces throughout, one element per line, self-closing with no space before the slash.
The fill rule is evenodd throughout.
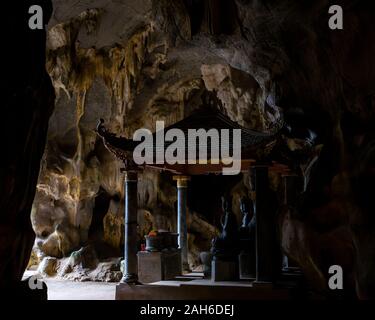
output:
<path id="1" fill-rule="evenodd" d="M 267 202 L 269 201 L 268 167 L 252 167 L 255 180 L 255 252 L 256 282 L 272 282 L 273 278 L 273 233 L 275 226 Z"/>

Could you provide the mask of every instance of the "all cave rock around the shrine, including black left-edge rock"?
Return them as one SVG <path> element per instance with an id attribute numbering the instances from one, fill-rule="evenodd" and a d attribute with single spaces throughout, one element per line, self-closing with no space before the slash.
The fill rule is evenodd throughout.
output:
<path id="1" fill-rule="evenodd" d="M 153 130 L 156 120 L 169 125 L 183 119 L 211 94 L 218 108 L 248 128 L 272 131 L 285 120 L 285 154 L 311 147 L 290 132 L 312 134 L 315 162 L 294 162 L 306 183 L 298 214 L 281 215 L 283 249 L 318 290 L 326 289 L 327 265 L 341 261 L 358 296 L 373 297 L 375 274 L 367 257 L 375 243 L 374 4 L 341 2 L 345 32 L 328 29 L 328 0 L 53 0 L 47 39 L 44 31 L 25 29 L 19 23 L 25 16 L 13 7 L 9 17 L 16 20 L 7 24 L 14 32 L 4 37 L 12 51 L 5 60 L 2 136 L 10 138 L 1 167 L 1 287 L 19 281 L 27 265 L 36 184 L 34 261 L 63 262 L 88 245 L 98 258 L 96 270 L 121 256 L 121 163 L 96 136 L 97 120 L 131 137 L 141 127 Z M 56 102 L 47 133 L 51 81 Z M 209 179 L 191 182 L 199 190 L 189 200 L 197 213 L 189 222 L 192 253 L 207 250 L 202 226 L 213 225 L 210 236 L 215 232 L 219 193 L 232 191 L 236 203 L 251 193 L 248 175 L 215 184 L 228 190 L 207 188 Z M 272 177 L 272 184 L 277 191 L 280 181 Z M 203 186 L 211 191 L 204 193 Z M 210 207 L 199 201 L 203 196 Z M 139 239 L 151 228 L 175 230 L 170 176 L 143 172 L 139 200 Z M 192 265 L 196 259 L 191 255 Z M 107 277 L 106 268 L 99 268 L 99 278 Z M 90 279 L 89 269 L 72 277 Z"/>

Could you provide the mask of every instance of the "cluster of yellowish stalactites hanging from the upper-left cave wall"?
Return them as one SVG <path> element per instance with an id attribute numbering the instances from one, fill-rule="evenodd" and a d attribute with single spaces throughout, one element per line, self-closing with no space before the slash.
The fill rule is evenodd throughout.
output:
<path id="1" fill-rule="evenodd" d="M 114 97 L 114 116 L 123 116 L 124 111 L 131 109 L 132 99 L 139 90 L 142 66 L 151 49 L 149 38 L 153 26 L 150 24 L 138 30 L 124 44 L 101 49 L 80 47 L 77 42 L 78 29 L 87 21 L 91 22 L 93 29 L 95 23 L 99 23 L 99 14 L 98 10 L 89 10 L 77 19 L 56 25 L 49 31 L 47 70 L 57 95 L 63 89 L 70 98 L 73 93 L 79 96 L 87 92 L 97 77 L 102 78 Z M 81 107 L 77 103 L 77 108 Z M 122 124 L 119 123 L 118 128 Z"/>

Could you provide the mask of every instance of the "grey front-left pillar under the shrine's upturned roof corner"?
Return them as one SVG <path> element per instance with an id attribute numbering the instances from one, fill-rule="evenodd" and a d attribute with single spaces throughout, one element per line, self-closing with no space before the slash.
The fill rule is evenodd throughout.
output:
<path id="1" fill-rule="evenodd" d="M 125 252 L 123 283 L 138 282 L 138 173 L 125 171 Z"/>

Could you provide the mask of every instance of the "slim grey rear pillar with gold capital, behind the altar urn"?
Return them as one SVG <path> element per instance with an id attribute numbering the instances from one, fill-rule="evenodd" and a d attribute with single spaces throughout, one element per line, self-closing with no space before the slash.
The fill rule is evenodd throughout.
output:
<path id="1" fill-rule="evenodd" d="M 188 263 L 188 239 L 187 239 L 187 188 L 189 177 L 176 176 L 177 180 L 177 232 L 178 245 L 181 250 L 182 270 L 190 271 Z"/>

